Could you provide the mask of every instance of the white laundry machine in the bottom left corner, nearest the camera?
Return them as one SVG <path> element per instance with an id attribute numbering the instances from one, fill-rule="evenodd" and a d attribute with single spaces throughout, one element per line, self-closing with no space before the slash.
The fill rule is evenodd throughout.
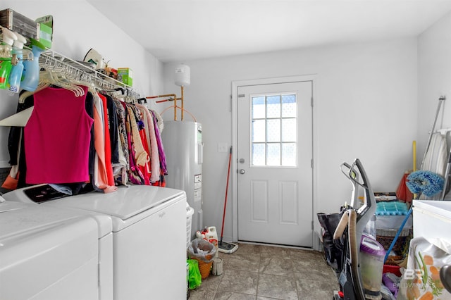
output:
<path id="1" fill-rule="evenodd" d="M 0 196 L 0 299 L 99 299 L 101 219 Z"/>

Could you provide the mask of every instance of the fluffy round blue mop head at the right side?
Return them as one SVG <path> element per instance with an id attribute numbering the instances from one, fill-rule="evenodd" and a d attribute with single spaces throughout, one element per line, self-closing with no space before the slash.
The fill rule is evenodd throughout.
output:
<path id="1" fill-rule="evenodd" d="M 414 171 L 407 176 L 406 185 L 414 194 L 425 194 L 430 197 L 443 189 L 445 179 L 428 170 Z"/>

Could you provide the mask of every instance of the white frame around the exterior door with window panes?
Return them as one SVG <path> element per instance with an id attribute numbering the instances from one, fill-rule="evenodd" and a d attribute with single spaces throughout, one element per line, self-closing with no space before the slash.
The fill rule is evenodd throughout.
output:
<path id="1" fill-rule="evenodd" d="M 233 242 L 237 242 L 238 240 L 238 176 L 237 176 L 237 89 L 238 87 L 248 86 L 248 85 L 268 85 L 271 83 L 284 83 L 284 82 L 299 82 L 299 81 L 311 81 L 313 85 L 312 94 L 314 99 L 316 98 L 316 77 L 317 75 L 297 75 L 297 76 L 289 76 L 289 77 L 276 77 L 276 78 L 264 78 L 264 79 L 254 79 L 254 80 L 237 80 L 232 82 L 232 167 L 231 167 L 231 175 L 232 175 L 232 238 Z M 315 103 L 315 101 L 314 101 Z M 312 156 L 313 161 L 316 161 L 316 110 L 315 106 L 312 107 Z M 316 163 L 313 164 L 312 169 L 312 180 L 313 180 L 313 211 L 312 220 L 314 220 L 314 224 L 316 221 Z M 314 226 L 315 227 L 315 226 Z M 316 231 L 313 232 L 313 249 L 318 250 L 318 237 L 316 235 Z"/>

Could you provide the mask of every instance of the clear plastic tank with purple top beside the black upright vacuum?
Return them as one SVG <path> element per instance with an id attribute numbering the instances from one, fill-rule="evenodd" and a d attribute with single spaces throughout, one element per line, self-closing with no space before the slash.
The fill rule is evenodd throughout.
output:
<path id="1" fill-rule="evenodd" d="M 360 273 L 366 299 L 382 299 L 381 282 L 385 250 L 369 235 L 363 234 L 360 243 Z"/>

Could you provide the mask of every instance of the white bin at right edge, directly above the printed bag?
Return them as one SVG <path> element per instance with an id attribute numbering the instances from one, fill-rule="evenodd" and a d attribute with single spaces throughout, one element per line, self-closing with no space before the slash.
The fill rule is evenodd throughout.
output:
<path id="1" fill-rule="evenodd" d="M 451 201 L 414 200 L 414 237 L 451 244 Z"/>

